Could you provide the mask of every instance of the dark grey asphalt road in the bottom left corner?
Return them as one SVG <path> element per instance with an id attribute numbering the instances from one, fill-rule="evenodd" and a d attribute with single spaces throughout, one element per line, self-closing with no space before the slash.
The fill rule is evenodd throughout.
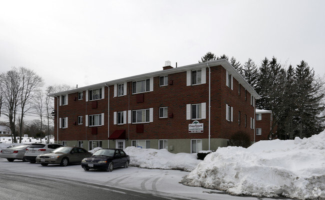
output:
<path id="1" fill-rule="evenodd" d="M 2 200 L 166 199 L 153 194 L 112 188 L 104 185 L 98 186 L 81 181 L 10 173 L 0 173 L 0 194 Z"/>

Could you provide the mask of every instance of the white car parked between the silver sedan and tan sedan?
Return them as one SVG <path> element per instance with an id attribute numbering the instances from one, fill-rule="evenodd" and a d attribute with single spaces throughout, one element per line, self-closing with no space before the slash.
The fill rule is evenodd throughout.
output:
<path id="1" fill-rule="evenodd" d="M 33 143 L 25 151 L 25 158 L 30 163 L 36 162 L 36 156 L 44 153 L 49 153 L 52 150 L 61 147 L 63 145 L 56 143 Z"/>

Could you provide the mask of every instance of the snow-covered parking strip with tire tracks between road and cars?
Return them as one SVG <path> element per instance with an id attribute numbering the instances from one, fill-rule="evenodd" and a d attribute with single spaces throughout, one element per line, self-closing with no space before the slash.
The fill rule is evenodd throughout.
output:
<path id="1" fill-rule="evenodd" d="M 115 168 L 112 172 L 97 170 L 84 171 L 79 164 L 68 165 L 66 167 L 59 165 L 41 166 L 40 164 L 31 164 L 22 161 L 8 162 L 6 159 L 0 158 L 0 173 L 72 179 L 89 184 L 158 194 L 171 199 L 267 199 L 249 196 L 232 196 L 218 190 L 186 186 L 179 183 L 179 181 L 189 172 L 179 170 L 128 167 Z"/>

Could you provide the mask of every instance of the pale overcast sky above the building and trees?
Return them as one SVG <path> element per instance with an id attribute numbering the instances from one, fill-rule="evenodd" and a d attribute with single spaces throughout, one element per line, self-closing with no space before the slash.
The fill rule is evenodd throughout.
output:
<path id="1" fill-rule="evenodd" d="M 87 86 L 195 64 L 208 51 L 304 60 L 325 74 L 325 1 L 0 1 L 0 73 Z"/>

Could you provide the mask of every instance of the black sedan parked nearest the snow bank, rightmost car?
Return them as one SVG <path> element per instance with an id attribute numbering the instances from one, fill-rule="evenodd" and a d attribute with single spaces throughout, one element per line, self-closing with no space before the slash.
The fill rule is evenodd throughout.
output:
<path id="1" fill-rule="evenodd" d="M 104 169 L 112 171 L 115 167 L 128 167 L 130 157 L 122 149 L 99 149 L 92 156 L 81 160 L 81 167 L 89 169 Z"/>

